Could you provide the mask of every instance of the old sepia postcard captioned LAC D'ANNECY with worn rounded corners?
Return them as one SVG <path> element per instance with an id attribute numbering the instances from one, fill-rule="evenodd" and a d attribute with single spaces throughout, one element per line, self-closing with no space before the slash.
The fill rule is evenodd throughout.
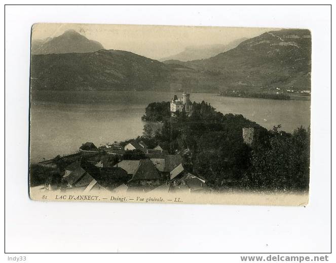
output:
<path id="1" fill-rule="evenodd" d="M 306 205 L 308 29 L 34 24 L 32 200 Z"/>

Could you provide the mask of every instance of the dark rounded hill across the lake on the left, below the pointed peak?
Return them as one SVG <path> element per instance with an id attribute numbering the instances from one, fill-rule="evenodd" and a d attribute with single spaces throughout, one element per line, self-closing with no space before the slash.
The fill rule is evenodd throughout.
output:
<path id="1" fill-rule="evenodd" d="M 169 66 L 131 52 L 33 55 L 32 89 L 148 90 L 167 76 Z"/>

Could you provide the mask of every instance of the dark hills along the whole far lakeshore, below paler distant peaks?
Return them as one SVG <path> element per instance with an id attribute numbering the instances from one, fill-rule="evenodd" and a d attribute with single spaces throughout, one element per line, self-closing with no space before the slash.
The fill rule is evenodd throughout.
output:
<path id="1" fill-rule="evenodd" d="M 310 89 L 310 72 L 311 34 L 305 29 L 266 32 L 208 59 L 186 62 L 163 63 L 127 51 L 101 49 L 31 56 L 34 90 Z"/>

